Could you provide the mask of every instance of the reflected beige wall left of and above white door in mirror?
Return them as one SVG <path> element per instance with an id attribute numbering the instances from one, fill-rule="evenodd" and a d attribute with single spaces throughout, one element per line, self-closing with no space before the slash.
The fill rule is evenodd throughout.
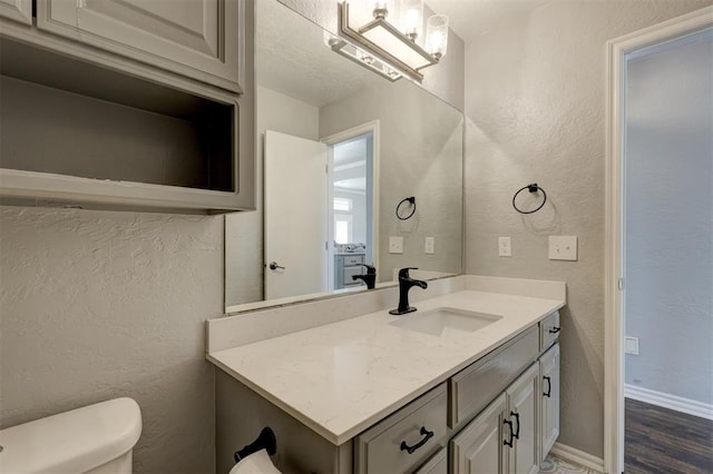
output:
<path id="1" fill-rule="evenodd" d="M 263 299 L 263 145 L 265 130 L 319 139 L 319 108 L 264 87 L 256 91 L 256 210 L 225 216 L 225 304 Z"/>

